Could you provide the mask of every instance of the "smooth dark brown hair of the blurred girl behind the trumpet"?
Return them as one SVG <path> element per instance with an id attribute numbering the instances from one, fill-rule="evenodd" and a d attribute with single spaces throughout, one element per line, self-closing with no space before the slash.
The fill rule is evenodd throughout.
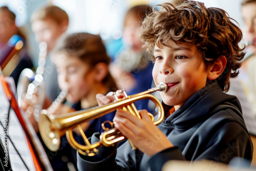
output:
<path id="1" fill-rule="evenodd" d="M 64 53 L 70 57 L 78 57 L 92 68 L 100 62 L 109 65 L 111 61 L 100 36 L 89 33 L 62 35 L 53 53 Z M 108 88 L 108 91 L 117 90 L 116 83 L 110 72 L 108 72 L 102 83 Z"/>

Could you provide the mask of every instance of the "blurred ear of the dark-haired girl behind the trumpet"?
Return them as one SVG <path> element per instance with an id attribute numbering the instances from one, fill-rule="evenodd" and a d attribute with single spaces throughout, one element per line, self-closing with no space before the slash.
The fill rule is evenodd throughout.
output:
<path id="1" fill-rule="evenodd" d="M 94 80 L 97 82 L 101 82 L 109 73 L 108 65 L 106 65 L 106 63 L 103 62 L 97 63 L 97 65 L 94 67 L 94 72 Z"/>

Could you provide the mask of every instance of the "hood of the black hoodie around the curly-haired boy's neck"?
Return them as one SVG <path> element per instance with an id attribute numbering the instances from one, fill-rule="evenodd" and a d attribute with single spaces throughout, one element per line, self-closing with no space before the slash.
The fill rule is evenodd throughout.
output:
<path id="1" fill-rule="evenodd" d="M 166 104 L 163 106 L 166 111 L 172 107 Z M 223 93 L 218 83 L 214 82 L 207 84 L 191 96 L 181 108 L 166 118 L 163 123 L 172 124 L 176 127 L 193 126 L 225 109 L 237 113 L 238 117 L 233 119 L 239 120 L 239 123 L 244 125 L 242 109 L 237 97 Z"/>

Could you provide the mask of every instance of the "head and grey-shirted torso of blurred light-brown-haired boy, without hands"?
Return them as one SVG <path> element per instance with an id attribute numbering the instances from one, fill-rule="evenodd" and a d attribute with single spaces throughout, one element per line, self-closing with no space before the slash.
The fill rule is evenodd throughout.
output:
<path id="1" fill-rule="evenodd" d="M 38 45 L 42 41 L 47 44 L 48 56 L 46 58 L 44 79 L 46 82 L 46 95 L 51 101 L 56 99 L 60 93 L 56 68 L 50 58 L 51 51 L 55 47 L 58 38 L 63 33 L 66 33 L 68 26 L 68 14 L 57 6 L 39 8 L 31 16 L 31 27 Z"/>

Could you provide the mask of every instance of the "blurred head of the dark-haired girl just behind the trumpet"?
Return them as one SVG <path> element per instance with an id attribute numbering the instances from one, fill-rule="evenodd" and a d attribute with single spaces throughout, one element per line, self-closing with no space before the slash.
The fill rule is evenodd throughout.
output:
<path id="1" fill-rule="evenodd" d="M 75 110 L 98 105 L 96 94 L 117 90 L 109 72 L 110 57 L 98 35 L 73 33 L 63 36 L 54 50 L 53 61 L 57 67 L 61 90 L 67 90 L 67 101 L 74 103 Z M 110 115 L 107 115 L 110 116 Z M 110 120 L 112 121 L 111 117 Z M 92 135 L 101 123 L 90 122 Z M 95 127 L 95 125 L 97 125 Z"/>

